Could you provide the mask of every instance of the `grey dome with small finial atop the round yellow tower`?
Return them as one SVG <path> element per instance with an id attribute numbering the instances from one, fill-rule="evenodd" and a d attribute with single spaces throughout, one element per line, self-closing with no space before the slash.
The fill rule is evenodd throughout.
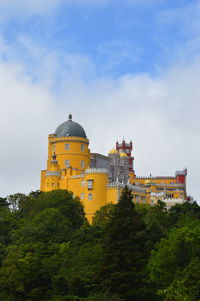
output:
<path id="1" fill-rule="evenodd" d="M 87 138 L 82 126 L 77 122 L 72 121 L 72 115 L 69 115 L 69 120 L 61 123 L 54 134 L 56 137 L 81 137 Z"/>

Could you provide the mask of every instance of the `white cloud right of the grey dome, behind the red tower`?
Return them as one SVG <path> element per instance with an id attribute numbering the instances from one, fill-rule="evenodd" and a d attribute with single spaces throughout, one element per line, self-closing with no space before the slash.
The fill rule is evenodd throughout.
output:
<path id="1" fill-rule="evenodd" d="M 199 199 L 199 70 L 195 60 L 158 78 L 105 78 L 79 83 L 76 90 L 74 83 L 66 97 L 75 100 L 70 111 L 84 125 L 92 150 L 106 154 L 116 139 L 133 139 L 138 175 L 173 175 L 186 166 L 188 192 Z"/>

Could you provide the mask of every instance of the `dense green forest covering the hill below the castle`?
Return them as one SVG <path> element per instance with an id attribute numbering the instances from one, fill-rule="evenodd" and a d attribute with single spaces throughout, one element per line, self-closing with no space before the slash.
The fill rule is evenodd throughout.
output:
<path id="1" fill-rule="evenodd" d="M 200 300 L 200 207 L 125 188 L 90 225 L 66 190 L 0 198 L 0 300 Z"/>

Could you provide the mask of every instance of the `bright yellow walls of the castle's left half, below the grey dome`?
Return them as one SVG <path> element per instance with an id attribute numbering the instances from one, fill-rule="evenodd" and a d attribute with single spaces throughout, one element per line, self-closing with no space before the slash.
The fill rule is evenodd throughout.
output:
<path id="1" fill-rule="evenodd" d="M 71 122 L 71 123 L 69 123 Z M 68 121 L 71 125 L 71 119 Z M 113 151 L 117 153 L 117 151 Z M 121 154 L 126 157 L 126 154 Z M 47 169 L 41 171 L 41 191 L 66 189 L 78 196 L 86 216 L 92 221 L 94 213 L 107 203 L 116 203 L 124 184 L 109 183 L 108 170 L 90 168 L 89 140 L 85 137 L 49 135 Z M 130 185 L 129 185 L 130 186 Z M 131 185 L 137 202 L 144 202 L 146 190 Z"/>

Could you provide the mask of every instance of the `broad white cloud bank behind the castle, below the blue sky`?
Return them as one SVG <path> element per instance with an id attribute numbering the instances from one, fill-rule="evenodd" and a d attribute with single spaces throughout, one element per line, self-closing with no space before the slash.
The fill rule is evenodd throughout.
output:
<path id="1" fill-rule="evenodd" d="M 138 175 L 173 175 L 187 166 L 188 191 L 200 198 L 200 59 L 157 78 L 130 74 L 85 81 L 82 75 L 92 67 L 84 56 L 77 63 L 66 54 L 62 59 L 71 67 L 64 72 L 55 54 L 44 60 L 45 51 L 30 48 L 40 62 L 33 70 L 40 73 L 36 83 L 22 64 L 0 63 L 0 195 L 39 188 L 47 136 L 72 112 L 92 151 L 106 154 L 116 139 L 133 139 Z M 59 93 L 51 92 L 55 82 Z"/>

